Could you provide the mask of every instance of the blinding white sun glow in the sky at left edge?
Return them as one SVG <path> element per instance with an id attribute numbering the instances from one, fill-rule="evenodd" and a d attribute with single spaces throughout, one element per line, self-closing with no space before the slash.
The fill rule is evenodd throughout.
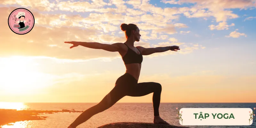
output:
<path id="1" fill-rule="evenodd" d="M 0 89 L 8 94 L 23 94 L 45 86 L 49 81 L 38 69 L 33 58 L 0 58 Z"/>

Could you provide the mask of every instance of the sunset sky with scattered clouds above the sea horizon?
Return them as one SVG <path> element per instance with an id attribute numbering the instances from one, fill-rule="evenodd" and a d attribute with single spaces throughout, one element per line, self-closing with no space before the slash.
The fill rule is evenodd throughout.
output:
<path id="1" fill-rule="evenodd" d="M 120 54 L 64 41 L 124 43 L 122 23 L 140 28 L 135 46 L 180 46 L 143 56 L 138 83 L 160 83 L 161 102 L 256 102 L 255 7 L 255 0 L 1 0 L 0 102 L 100 102 L 125 73 Z M 8 26 L 16 8 L 35 17 L 25 35 Z"/>

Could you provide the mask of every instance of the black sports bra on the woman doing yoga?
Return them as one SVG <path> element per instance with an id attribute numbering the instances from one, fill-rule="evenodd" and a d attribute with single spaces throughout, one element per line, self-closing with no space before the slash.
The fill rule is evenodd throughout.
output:
<path id="1" fill-rule="evenodd" d="M 125 43 L 124 43 L 125 44 Z M 126 45 L 126 44 L 125 44 Z M 127 46 L 127 45 L 126 45 Z M 128 46 L 127 46 L 128 47 Z M 138 49 L 138 48 L 137 48 Z M 139 49 L 138 49 L 139 50 Z M 140 51 L 140 50 L 139 50 Z M 136 52 L 134 52 L 132 49 L 130 49 L 128 47 L 128 51 L 126 52 L 126 54 L 124 55 L 124 57 L 122 57 L 124 64 L 132 64 L 132 63 L 139 63 L 141 64 L 143 57 L 142 54 L 140 52 L 140 54 L 137 54 Z"/>

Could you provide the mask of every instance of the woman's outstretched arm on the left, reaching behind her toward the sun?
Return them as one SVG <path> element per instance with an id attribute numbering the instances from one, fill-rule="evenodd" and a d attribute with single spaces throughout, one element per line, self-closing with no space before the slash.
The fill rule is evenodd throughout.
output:
<path id="1" fill-rule="evenodd" d="M 76 41 L 71 41 L 71 42 L 64 42 L 68 44 L 73 44 L 70 48 L 76 47 L 76 46 L 84 46 L 87 48 L 93 48 L 93 49 L 103 49 L 109 52 L 119 52 L 121 49 L 122 43 L 114 43 L 114 44 L 101 44 L 98 42 L 76 42 Z"/>

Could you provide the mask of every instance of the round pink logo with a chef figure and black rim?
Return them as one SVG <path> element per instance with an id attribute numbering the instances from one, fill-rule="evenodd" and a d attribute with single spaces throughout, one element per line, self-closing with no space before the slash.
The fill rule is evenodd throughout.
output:
<path id="1" fill-rule="evenodd" d="M 32 30 L 35 18 L 28 9 L 17 8 L 9 15 L 8 24 L 14 33 L 23 35 Z"/>

